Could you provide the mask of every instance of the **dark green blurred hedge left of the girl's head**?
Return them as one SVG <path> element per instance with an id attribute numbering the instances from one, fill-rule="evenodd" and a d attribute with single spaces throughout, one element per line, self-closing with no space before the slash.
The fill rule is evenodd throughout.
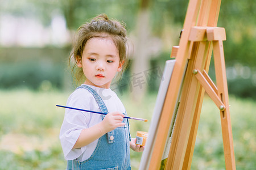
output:
<path id="1" fill-rule="evenodd" d="M 0 88 L 27 87 L 34 90 L 42 88 L 61 88 L 63 86 L 61 64 L 49 62 L 18 62 L 0 64 Z"/>

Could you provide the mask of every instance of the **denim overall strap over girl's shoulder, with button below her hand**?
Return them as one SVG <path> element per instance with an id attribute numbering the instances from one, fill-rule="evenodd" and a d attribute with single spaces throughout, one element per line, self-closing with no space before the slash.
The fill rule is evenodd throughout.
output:
<path id="1" fill-rule="evenodd" d="M 77 87 L 76 89 L 79 89 L 79 88 L 85 88 L 86 90 L 88 90 L 94 96 L 94 98 L 96 99 L 96 101 L 98 103 L 98 106 L 101 109 L 101 112 L 109 113 L 108 109 L 106 108 L 106 105 L 105 105 L 104 101 L 101 99 L 101 96 L 98 95 L 96 91 L 94 91 L 89 86 L 86 86 L 85 84 L 82 84 L 81 86 Z M 104 117 L 105 117 L 105 115 L 103 116 L 103 118 Z M 112 130 L 112 131 L 108 132 L 108 143 L 114 143 L 114 142 L 115 142 L 114 130 Z"/>

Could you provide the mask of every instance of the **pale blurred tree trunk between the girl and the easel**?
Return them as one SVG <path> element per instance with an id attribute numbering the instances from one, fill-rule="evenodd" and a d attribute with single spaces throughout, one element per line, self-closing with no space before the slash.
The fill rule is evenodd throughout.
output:
<path id="1" fill-rule="evenodd" d="M 134 57 L 131 70 L 131 88 L 133 99 L 141 101 L 146 92 L 146 80 L 143 77 L 143 72 L 150 67 L 150 0 L 141 0 L 135 32 L 135 47 Z"/>

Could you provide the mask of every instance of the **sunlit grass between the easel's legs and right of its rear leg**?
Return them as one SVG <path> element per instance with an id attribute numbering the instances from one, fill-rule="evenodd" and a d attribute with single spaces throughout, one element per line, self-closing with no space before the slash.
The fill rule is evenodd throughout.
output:
<path id="1" fill-rule="evenodd" d="M 256 103 L 236 97 L 229 100 L 236 167 L 254 169 Z M 208 97 L 203 103 L 191 169 L 225 169 L 220 112 Z"/>

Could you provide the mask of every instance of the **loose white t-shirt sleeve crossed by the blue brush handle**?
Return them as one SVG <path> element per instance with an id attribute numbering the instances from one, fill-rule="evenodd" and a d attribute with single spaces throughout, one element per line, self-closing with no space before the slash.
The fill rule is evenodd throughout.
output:
<path id="1" fill-rule="evenodd" d="M 67 101 L 68 107 L 90 109 L 90 101 L 92 95 L 83 89 L 74 91 Z M 65 116 L 63 124 L 60 129 L 60 143 L 63 148 L 64 157 L 67 160 L 79 158 L 79 156 L 86 150 L 86 146 L 72 149 L 75 145 L 82 129 L 88 128 L 90 114 L 73 109 L 65 109 Z"/>

